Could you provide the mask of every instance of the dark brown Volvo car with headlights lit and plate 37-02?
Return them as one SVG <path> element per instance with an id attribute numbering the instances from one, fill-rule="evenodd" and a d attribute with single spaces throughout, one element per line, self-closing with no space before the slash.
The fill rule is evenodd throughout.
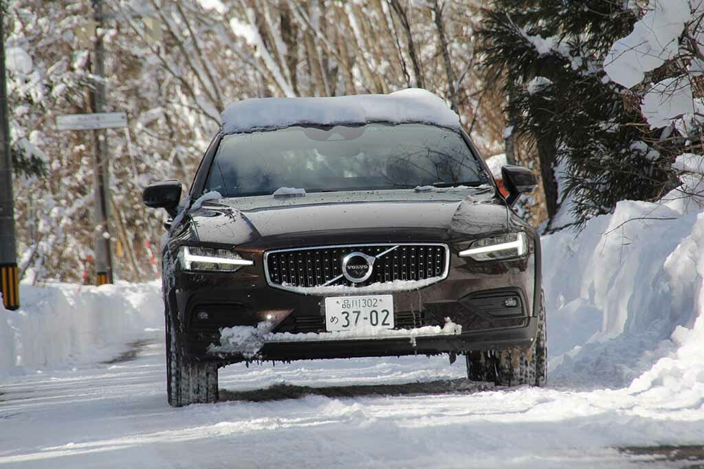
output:
<path id="1" fill-rule="evenodd" d="M 504 198 L 459 125 L 426 121 L 225 124 L 184 202 L 146 188 L 173 218 L 170 404 L 217 400 L 239 361 L 463 354 L 470 379 L 545 382 L 540 239 L 511 208 L 534 176 L 503 167 Z"/>

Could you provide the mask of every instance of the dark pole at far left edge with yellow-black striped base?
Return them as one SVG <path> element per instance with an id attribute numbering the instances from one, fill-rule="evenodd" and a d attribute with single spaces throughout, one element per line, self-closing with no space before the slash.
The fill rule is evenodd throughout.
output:
<path id="1" fill-rule="evenodd" d="M 12 155 L 5 73 L 5 2 L 0 3 L 0 293 L 7 309 L 20 307 L 15 246 L 15 209 L 12 195 Z"/>

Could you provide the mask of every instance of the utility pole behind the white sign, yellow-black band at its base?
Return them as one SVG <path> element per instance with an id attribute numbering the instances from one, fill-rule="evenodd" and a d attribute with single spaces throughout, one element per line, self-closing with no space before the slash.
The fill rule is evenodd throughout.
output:
<path id="1" fill-rule="evenodd" d="M 95 58 L 93 61 L 94 91 L 92 92 L 92 108 L 94 113 L 102 113 L 105 106 L 105 67 L 103 65 L 103 39 L 100 30 L 103 27 L 103 8 L 101 0 L 92 0 L 93 14 L 96 21 L 94 37 Z M 108 145 L 106 131 L 94 130 L 95 158 L 93 173 L 95 178 L 94 223 L 97 227 L 95 235 L 96 285 L 113 283 L 113 259 L 110 248 L 110 206 L 106 192 L 110 188 L 110 173 L 108 163 Z"/>

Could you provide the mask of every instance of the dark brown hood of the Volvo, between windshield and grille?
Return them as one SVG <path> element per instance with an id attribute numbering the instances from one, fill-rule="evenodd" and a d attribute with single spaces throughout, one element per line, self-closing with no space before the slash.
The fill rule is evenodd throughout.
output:
<path id="1" fill-rule="evenodd" d="M 451 241 L 506 231 L 512 223 L 507 210 L 493 188 L 222 198 L 191 210 L 185 221 L 190 235 L 182 238 L 277 247 L 352 240 Z"/>

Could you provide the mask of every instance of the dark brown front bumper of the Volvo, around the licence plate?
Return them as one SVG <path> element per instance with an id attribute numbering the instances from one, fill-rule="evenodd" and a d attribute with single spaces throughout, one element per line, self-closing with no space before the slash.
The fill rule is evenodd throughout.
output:
<path id="1" fill-rule="evenodd" d="M 177 272 L 176 280 L 177 286 L 169 295 L 170 311 L 177 311 L 181 325 L 178 340 L 191 359 L 223 364 L 252 359 L 238 352 L 208 352 L 211 345 L 219 345 L 221 328 L 271 321 L 275 334 L 325 330 L 327 295 L 272 288 L 260 263 L 234 275 Z M 419 290 L 379 292 L 394 295 L 396 325 L 410 329 L 407 336 L 276 340 L 265 343 L 256 359 L 289 361 L 528 347 L 536 336 L 535 291 L 534 256 L 482 264 L 453 254 L 444 281 Z M 501 295 L 520 297 L 520 308 L 497 313 L 495 300 Z M 198 319 L 201 311 L 209 311 L 208 320 Z M 413 334 L 413 328 L 443 326 L 445 318 L 462 326 L 462 333 Z"/>

